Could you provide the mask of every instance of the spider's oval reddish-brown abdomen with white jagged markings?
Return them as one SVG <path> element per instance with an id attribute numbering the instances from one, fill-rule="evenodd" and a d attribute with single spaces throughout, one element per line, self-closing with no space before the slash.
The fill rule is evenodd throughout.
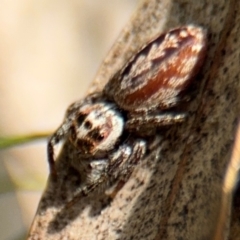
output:
<path id="1" fill-rule="evenodd" d="M 174 106 L 198 73 L 205 53 L 206 33 L 201 27 L 173 29 L 145 45 L 104 91 L 131 112 Z"/>

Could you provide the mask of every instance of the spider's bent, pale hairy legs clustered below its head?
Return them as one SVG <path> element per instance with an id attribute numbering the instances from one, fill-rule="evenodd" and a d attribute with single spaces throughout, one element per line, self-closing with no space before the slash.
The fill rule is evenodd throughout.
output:
<path id="1" fill-rule="evenodd" d="M 112 198 L 123 187 L 130 177 L 134 167 L 143 158 L 146 152 L 146 143 L 144 140 L 135 140 L 132 144 L 123 144 L 115 152 L 111 153 L 107 159 L 92 160 L 89 165 L 90 171 L 85 173 L 85 181 L 82 182 L 80 191 L 68 203 L 72 206 L 82 197 L 86 197 L 90 192 L 94 191 L 100 185 L 108 184 L 110 180 L 117 179 L 118 183 L 110 194 Z M 80 174 L 86 168 L 76 166 Z"/>

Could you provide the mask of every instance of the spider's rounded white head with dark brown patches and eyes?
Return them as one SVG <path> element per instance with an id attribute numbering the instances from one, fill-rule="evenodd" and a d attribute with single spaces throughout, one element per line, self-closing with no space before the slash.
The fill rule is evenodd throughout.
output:
<path id="1" fill-rule="evenodd" d="M 124 120 L 114 104 L 87 104 L 79 111 L 82 122 L 74 122 L 73 142 L 84 153 L 109 151 L 123 132 Z"/>

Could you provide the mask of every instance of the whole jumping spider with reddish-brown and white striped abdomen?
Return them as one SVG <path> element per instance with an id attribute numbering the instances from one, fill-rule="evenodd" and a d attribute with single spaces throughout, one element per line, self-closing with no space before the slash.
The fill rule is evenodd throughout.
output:
<path id="1" fill-rule="evenodd" d="M 206 54 L 206 33 L 187 25 L 146 44 L 115 74 L 102 92 L 72 104 L 48 143 L 56 174 L 54 146 L 69 139 L 77 150 L 71 164 L 87 195 L 109 179 L 126 181 L 147 150 L 146 136 L 182 122 L 186 113 L 170 111 L 181 101 Z"/>

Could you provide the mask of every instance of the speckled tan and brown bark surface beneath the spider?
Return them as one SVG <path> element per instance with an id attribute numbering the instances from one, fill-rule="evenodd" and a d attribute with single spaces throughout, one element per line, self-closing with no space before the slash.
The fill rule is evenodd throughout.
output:
<path id="1" fill-rule="evenodd" d="M 111 200 L 95 191 L 69 207 L 78 175 L 69 168 L 71 146 L 58 157 L 57 182 L 49 179 L 29 237 L 36 239 L 228 239 L 229 210 L 218 231 L 223 179 L 240 110 L 240 2 L 145 0 L 120 34 L 90 91 L 154 35 L 181 25 L 208 31 L 208 53 L 190 117 L 171 127 Z M 226 203 L 230 209 L 231 201 Z M 231 239 L 239 223 L 233 222 Z M 218 231 L 218 232 L 217 232 Z"/>

